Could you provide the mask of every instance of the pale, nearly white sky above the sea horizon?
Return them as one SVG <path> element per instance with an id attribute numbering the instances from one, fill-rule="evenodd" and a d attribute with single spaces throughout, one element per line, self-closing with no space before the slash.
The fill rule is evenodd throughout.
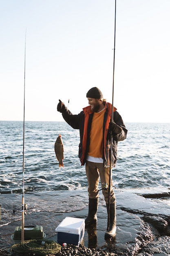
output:
<path id="1" fill-rule="evenodd" d="M 63 121 L 97 86 L 112 102 L 114 0 L 0 0 L 0 120 Z M 170 0 L 117 0 L 114 106 L 170 122 Z"/>

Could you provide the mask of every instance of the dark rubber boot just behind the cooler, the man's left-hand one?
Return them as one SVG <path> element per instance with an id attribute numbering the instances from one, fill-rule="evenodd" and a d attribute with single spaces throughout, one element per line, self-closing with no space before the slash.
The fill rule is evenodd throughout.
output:
<path id="1" fill-rule="evenodd" d="M 95 199 L 89 198 L 88 216 L 85 220 L 86 226 L 97 223 L 98 201 L 99 201 L 98 198 L 95 198 Z"/>

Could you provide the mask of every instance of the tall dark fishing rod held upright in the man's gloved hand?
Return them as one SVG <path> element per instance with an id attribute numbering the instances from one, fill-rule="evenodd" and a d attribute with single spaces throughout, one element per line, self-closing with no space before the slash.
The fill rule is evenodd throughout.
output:
<path id="1" fill-rule="evenodd" d="M 115 0 L 115 31 L 114 31 L 114 53 L 113 53 L 113 91 L 112 91 L 112 117 L 111 121 L 113 122 L 113 98 L 114 98 L 114 76 L 115 76 L 115 40 L 116 39 L 116 0 Z M 107 230 L 109 231 L 110 223 L 110 183 L 111 183 L 111 173 L 112 173 L 112 143 L 113 137 L 112 132 L 110 132 L 110 171 L 109 171 L 109 185 L 108 185 L 108 223 Z"/>

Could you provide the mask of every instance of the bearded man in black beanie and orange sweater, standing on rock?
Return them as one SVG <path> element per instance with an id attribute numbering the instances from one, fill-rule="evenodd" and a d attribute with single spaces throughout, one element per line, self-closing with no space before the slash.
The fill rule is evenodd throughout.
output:
<path id="1" fill-rule="evenodd" d="M 115 167 L 117 162 L 117 142 L 126 139 L 127 129 L 115 107 L 113 107 L 114 121 L 111 122 L 112 105 L 103 99 L 103 94 L 99 88 L 91 88 L 86 97 L 90 106 L 83 108 L 83 111 L 78 115 L 73 115 L 60 100 L 57 111 L 62 113 L 64 120 L 71 127 L 79 129 L 80 132 L 79 158 L 82 165 L 86 164 L 89 197 L 88 216 L 85 225 L 87 227 L 97 223 L 100 177 L 107 211 L 110 211 L 109 227 L 105 233 L 105 239 L 108 239 L 116 235 L 116 201 L 112 179 L 110 181 L 109 209 L 109 173 L 112 172 L 112 167 Z M 112 154 L 110 154 L 111 136 L 113 136 Z M 112 155 L 112 159 L 110 159 L 110 155 Z"/>

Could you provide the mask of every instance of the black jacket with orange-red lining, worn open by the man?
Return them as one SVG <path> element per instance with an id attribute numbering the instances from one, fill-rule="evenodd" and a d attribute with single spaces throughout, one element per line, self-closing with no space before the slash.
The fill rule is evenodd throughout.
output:
<path id="1" fill-rule="evenodd" d="M 108 126 L 112 116 L 112 105 L 110 103 L 105 104 L 106 112 L 104 114 L 104 123 L 103 123 L 103 159 L 104 167 L 110 167 L 109 159 L 109 150 L 110 150 L 110 132 L 108 131 Z M 121 127 L 121 132 L 113 136 L 112 140 L 112 164 L 114 167 L 117 162 L 117 142 L 126 139 L 127 129 L 124 125 L 124 122 L 116 111 L 117 109 L 113 108 L 113 119 L 114 122 Z M 82 165 L 86 162 L 86 156 L 89 146 L 90 130 L 91 123 L 93 118 L 93 112 L 91 111 L 91 106 L 83 108 L 83 111 L 78 115 L 73 115 L 68 108 L 65 107 L 64 113 L 62 113 L 64 120 L 74 129 L 79 129 L 80 133 L 80 143 L 79 143 L 79 158 Z"/>

